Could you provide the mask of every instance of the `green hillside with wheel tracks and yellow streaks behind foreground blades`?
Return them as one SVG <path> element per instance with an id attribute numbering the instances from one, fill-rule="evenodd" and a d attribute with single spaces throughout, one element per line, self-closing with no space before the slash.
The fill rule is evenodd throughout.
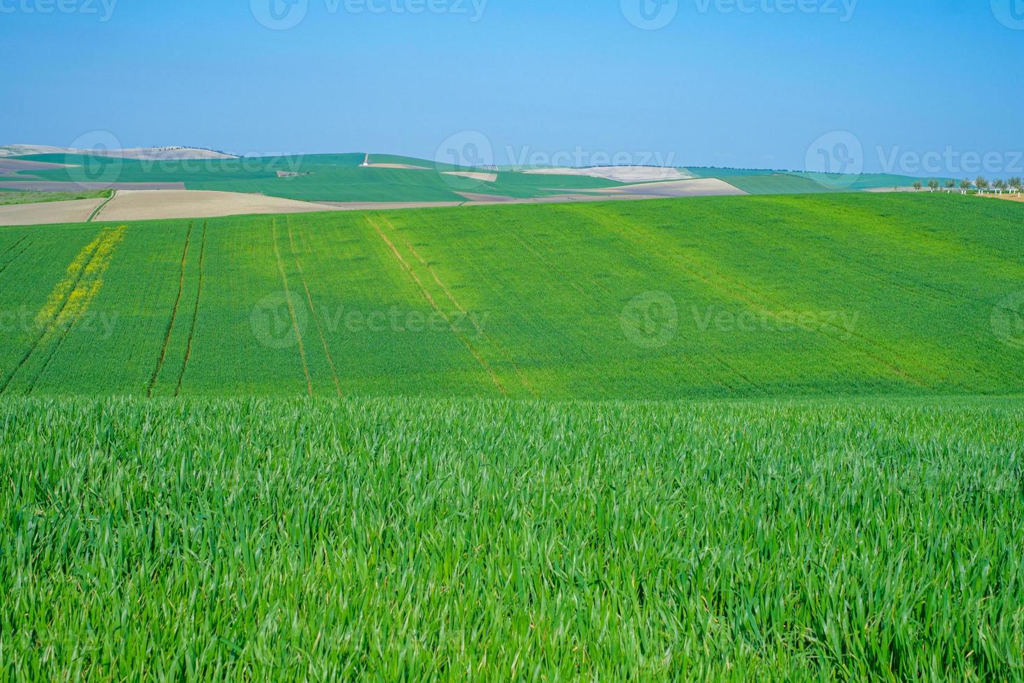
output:
<path id="1" fill-rule="evenodd" d="M 822 195 L 2 228 L 0 388 L 1017 393 L 999 306 L 1024 282 L 1020 210 Z"/>

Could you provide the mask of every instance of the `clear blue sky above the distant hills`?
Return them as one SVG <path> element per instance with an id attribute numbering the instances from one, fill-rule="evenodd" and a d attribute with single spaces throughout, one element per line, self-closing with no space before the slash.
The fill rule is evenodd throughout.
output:
<path id="1" fill-rule="evenodd" d="M 0 0 L 0 143 L 1024 171 L 1024 0 L 483 1 Z"/>

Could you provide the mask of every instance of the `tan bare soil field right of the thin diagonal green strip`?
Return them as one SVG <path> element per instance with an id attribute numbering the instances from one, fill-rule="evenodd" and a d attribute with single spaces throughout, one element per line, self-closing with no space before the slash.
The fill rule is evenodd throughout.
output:
<path id="1" fill-rule="evenodd" d="M 122 190 L 96 220 L 148 220 L 157 218 L 211 218 L 251 213 L 302 213 L 335 211 L 336 207 L 264 195 L 218 193 L 200 189 Z"/>

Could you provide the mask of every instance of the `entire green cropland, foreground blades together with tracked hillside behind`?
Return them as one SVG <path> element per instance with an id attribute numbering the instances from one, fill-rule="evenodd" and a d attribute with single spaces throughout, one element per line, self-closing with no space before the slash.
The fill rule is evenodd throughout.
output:
<path id="1" fill-rule="evenodd" d="M 0 676 L 1020 680 L 1022 210 L 0 227 Z"/>

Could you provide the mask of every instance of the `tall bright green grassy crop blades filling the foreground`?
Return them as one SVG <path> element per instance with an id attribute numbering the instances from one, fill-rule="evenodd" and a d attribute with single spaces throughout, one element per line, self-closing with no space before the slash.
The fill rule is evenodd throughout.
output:
<path id="1" fill-rule="evenodd" d="M 0 670 L 1019 680 L 1020 401 L 0 401 Z"/>

